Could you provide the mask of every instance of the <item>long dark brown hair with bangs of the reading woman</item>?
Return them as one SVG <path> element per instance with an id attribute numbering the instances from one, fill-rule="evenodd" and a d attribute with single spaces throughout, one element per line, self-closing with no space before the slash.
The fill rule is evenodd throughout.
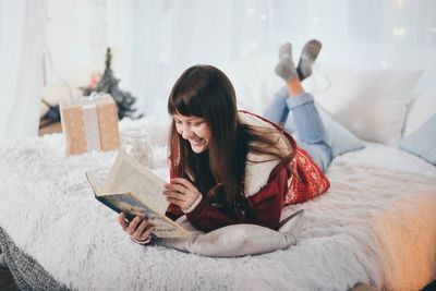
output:
<path id="1" fill-rule="evenodd" d="M 168 113 L 207 122 L 211 134 L 208 150 L 195 154 L 172 121 L 169 154 L 173 174 L 191 180 L 205 198 L 228 210 L 250 213 L 242 193 L 249 149 L 289 159 L 271 150 L 276 141 L 267 137 L 267 130 L 240 122 L 234 88 L 215 66 L 194 65 L 184 71 L 170 93 Z"/>

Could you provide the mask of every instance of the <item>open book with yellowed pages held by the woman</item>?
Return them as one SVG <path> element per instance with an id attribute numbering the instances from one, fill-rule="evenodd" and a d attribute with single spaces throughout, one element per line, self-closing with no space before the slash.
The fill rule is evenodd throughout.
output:
<path id="1" fill-rule="evenodd" d="M 120 149 L 109 177 L 102 181 L 86 172 L 96 199 L 126 219 L 148 217 L 157 238 L 190 238 L 191 233 L 168 218 L 165 213 L 169 202 L 164 195 L 165 181 L 133 157 Z"/>

